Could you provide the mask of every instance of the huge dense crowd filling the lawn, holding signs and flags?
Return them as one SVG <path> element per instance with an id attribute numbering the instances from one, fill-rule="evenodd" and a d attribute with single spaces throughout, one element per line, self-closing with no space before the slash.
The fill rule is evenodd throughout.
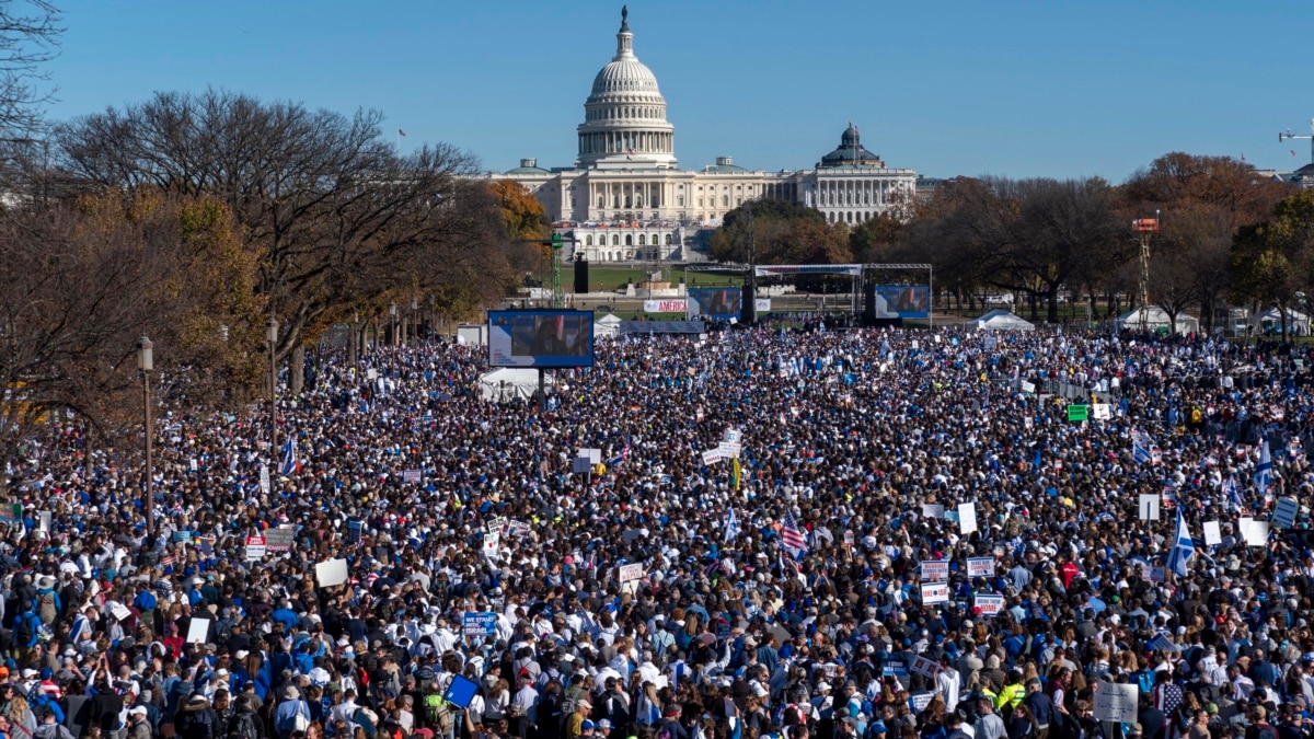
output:
<path id="1" fill-rule="evenodd" d="M 1314 738 L 1303 347 L 807 329 L 24 439 L 0 735 Z"/>

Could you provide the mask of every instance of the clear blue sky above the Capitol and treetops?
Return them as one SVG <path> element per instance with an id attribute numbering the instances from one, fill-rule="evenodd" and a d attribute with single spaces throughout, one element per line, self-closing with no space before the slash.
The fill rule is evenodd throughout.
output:
<path id="1" fill-rule="evenodd" d="M 573 163 L 622 4 L 55 1 L 51 117 L 214 85 L 377 108 L 403 146 L 444 141 L 490 170 Z M 639 0 L 629 25 L 689 168 L 811 167 L 849 120 L 890 166 L 930 176 L 1120 181 L 1175 150 L 1310 156 L 1277 142 L 1314 117 L 1307 0 Z"/>

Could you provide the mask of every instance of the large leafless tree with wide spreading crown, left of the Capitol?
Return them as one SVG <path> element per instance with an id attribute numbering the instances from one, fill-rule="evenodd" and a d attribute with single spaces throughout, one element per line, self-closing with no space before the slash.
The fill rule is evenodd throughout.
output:
<path id="1" fill-rule="evenodd" d="M 283 325 L 284 356 L 350 306 L 445 291 L 453 276 L 481 295 L 510 279 L 474 159 L 445 145 L 398 156 L 381 121 L 213 89 L 158 93 L 60 126 L 58 154 L 85 187 L 227 203 L 263 255 L 258 289 Z"/>

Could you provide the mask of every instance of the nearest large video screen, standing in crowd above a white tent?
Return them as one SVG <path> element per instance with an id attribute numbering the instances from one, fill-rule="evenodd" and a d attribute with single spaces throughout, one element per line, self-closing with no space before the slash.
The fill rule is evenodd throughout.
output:
<path id="1" fill-rule="evenodd" d="M 591 367 L 593 313 L 489 310 L 489 366 Z"/>

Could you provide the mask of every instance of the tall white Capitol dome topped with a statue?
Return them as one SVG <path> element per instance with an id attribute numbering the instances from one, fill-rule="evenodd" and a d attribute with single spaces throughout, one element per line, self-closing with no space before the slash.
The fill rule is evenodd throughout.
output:
<path id="1" fill-rule="evenodd" d="M 616 55 L 593 80 L 579 124 L 577 167 L 674 168 L 675 126 L 657 76 L 635 57 L 629 11 L 620 9 Z"/>

